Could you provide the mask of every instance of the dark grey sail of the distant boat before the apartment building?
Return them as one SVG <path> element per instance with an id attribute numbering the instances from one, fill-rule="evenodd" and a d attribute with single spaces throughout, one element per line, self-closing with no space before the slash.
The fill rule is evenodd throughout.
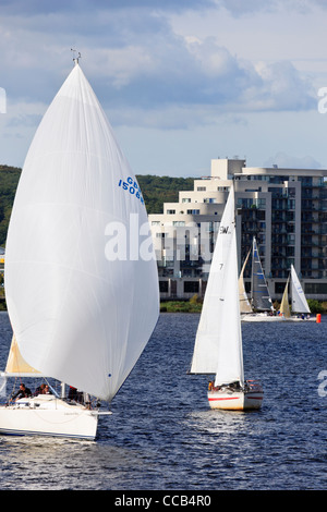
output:
<path id="1" fill-rule="evenodd" d="M 256 240 L 253 239 L 252 252 L 252 307 L 257 310 L 272 310 L 272 303 L 262 267 Z"/>

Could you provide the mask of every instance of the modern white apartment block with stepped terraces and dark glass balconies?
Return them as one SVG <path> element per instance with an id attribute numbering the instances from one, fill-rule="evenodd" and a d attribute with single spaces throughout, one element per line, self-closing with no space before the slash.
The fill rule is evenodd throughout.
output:
<path id="1" fill-rule="evenodd" d="M 272 300 L 280 301 L 291 264 L 308 298 L 327 300 L 327 170 L 247 168 L 211 160 L 210 176 L 194 180 L 164 212 L 150 215 L 161 298 L 204 295 L 213 248 L 234 183 L 239 266 L 258 243 Z M 250 291 L 250 266 L 245 287 Z"/>

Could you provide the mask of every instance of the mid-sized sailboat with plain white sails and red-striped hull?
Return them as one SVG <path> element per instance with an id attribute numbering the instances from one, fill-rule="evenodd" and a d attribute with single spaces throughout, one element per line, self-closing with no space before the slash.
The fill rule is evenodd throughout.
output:
<path id="1" fill-rule="evenodd" d="M 233 185 L 219 227 L 190 373 L 216 374 L 208 390 L 211 409 L 262 406 L 261 383 L 244 380 Z"/>

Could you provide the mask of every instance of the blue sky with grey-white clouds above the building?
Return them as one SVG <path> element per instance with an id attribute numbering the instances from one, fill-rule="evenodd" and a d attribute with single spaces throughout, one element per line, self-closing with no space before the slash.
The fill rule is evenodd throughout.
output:
<path id="1" fill-rule="evenodd" d="M 135 174 L 327 169 L 326 25 L 327 0 L 0 0 L 0 163 L 80 52 Z"/>

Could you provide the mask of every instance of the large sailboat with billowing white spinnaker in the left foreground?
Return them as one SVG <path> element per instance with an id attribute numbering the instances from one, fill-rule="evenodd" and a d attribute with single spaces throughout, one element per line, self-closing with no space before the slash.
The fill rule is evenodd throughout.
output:
<path id="1" fill-rule="evenodd" d="M 131 224 L 126 242 L 118 233 Z M 142 193 L 78 59 L 27 153 L 4 280 L 13 341 L 2 377 L 61 385 L 9 400 L 0 432 L 95 439 L 156 326 L 159 290 Z"/>

